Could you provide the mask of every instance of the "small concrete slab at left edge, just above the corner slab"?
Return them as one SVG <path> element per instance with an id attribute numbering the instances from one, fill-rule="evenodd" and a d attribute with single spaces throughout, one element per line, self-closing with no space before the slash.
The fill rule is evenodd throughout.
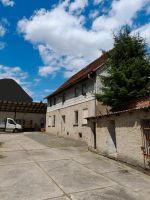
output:
<path id="1" fill-rule="evenodd" d="M 0 165 L 33 162 L 26 151 L 0 152 Z"/>

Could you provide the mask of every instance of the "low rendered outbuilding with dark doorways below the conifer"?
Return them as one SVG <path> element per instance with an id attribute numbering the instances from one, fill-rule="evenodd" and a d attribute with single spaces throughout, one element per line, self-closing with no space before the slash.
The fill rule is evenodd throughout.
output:
<path id="1" fill-rule="evenodd" d="M 90 117 L 88 125 L 91 127 L 89 149 L 150 169 L 150 98 L 136 101 L 125 110 Z"/>

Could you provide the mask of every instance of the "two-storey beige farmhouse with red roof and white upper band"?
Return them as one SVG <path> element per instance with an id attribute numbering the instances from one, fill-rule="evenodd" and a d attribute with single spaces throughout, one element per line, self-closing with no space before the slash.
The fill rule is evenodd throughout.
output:
<path id="1" fill-rule="evenodd" d="M 47 132 L 88 142 L 90 128 L 86 118 L 96 116 L 97 110 L 106 111 L 95 99 L 101 87 L 98 75 L 105 73 L 105 60 L 104 54 L 47 97 Z M 95 130 L 95 123 L 92 129 Z"/>

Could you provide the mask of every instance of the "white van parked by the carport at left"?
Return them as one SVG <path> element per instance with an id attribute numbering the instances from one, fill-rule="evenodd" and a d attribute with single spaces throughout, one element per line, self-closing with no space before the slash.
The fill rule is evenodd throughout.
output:
<path id="1" fill-rule="evenodd" d="M 0 121 L 0 129 L 4 131 L 19 132 L 22 130 L 22 126 L 17 124 L 13 119 L 6 118 Z"/>

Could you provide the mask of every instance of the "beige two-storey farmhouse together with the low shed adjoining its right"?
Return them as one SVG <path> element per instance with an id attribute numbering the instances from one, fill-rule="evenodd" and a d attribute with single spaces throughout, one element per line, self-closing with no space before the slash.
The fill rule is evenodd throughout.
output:
<path id="1" fill-rule="evenodd" d="M 106 54 L 73 75 L 50 94 L 46 131 L 83 140 L 92 151 L 150 168 L 150 99 L 112 112 L 95 98 L 99 75 L 106 75 Z"/>

